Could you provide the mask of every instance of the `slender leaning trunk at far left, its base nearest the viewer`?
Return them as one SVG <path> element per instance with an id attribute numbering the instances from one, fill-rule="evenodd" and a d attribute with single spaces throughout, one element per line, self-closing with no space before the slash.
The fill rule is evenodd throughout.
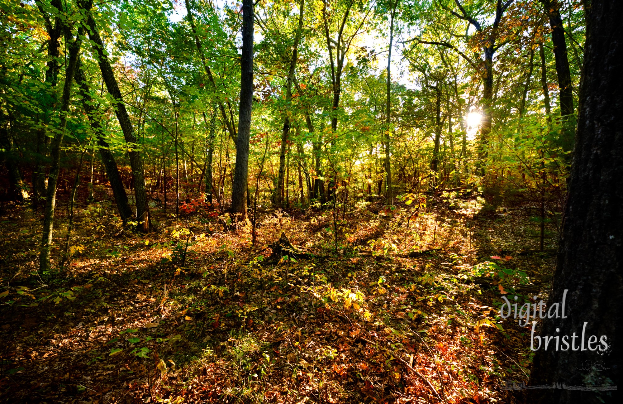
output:
<path id="1" fill-rule="evenodd" d="M 50 166 L 50 175 L 47 181 L 47 190 L 45 193 L 45 213 L 43 219 L 43 229 L 41 233 L 41 250 L 39 254 L 39 270 L 46 271 L 50 269 L 50 251 L 52 249 L 52 228 L 54 225 L 54 209 L 56 207 L 56 189 L 60 172 L 60 147 L 65 137 L 65 128 L 67 127 L 67 113 L 69 112 L 69 101 L 71 97 L 72 84 L 74 84 L 74 72 L 78 62 L 78 54 L 80 53 L 80 45 L 82 44 L 82 36 L 84 30 L 82 26 L 78 29 L 75 40 L 70 42 L 71 32 L 65 30 L 65 42 L 69 48 L 69 60 L 65 69 L 65 85 L 63 87 L 63 95 L 60 107 L 59 128 L 52 139 L 52 166 Z"/>

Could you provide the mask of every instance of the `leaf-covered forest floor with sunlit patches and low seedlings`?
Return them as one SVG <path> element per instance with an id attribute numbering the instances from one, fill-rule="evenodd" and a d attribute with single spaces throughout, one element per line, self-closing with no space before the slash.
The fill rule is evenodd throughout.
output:
<path id="1" fill-rule="evenodd" d="M 498 322 L 501 292 L 546 296 L 554 257 L 534 252 L 527 203 L 454 203 L 409 219 L 360 202 L 338 251 L 331 209 L 262 211 L 252 246 L 250 226 L 209 210 L 156 207 L 156 230 L 135 234 L 110 203 L 80 203 L 69 269 L 49 274 L 41 211 L 5 205 L 0 402 L 515 402 L 505 382 L 526 381 L 530 330 Z M 282 233 L 306 254 L 271 259 Z"/>

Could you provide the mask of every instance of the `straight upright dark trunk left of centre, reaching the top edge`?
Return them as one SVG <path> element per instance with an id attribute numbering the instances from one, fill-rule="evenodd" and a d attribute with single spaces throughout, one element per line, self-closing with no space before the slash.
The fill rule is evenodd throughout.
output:
<path id="1" fill-rule="evenodd" d="M 253 1 L 242 1 L 242 62 L 240 62 L 240 109 L 235 145 L 235 174 L 232 211 L 247 214 L 247 174 L 249 173 L 249 135 L 253 102 Z"/>

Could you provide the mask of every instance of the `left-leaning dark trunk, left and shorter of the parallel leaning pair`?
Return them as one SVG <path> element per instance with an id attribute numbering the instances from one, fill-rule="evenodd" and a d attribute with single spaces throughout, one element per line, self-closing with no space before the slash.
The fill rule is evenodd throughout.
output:
<path id="1" fill-rule="evenodd" d="M 119 173 L 119 169 L 117 168 L 115 156 L 113 156 L 112 151 L 110 151 L 110 145 L 108 145 L 108 142 L 106 142 L 106 139 L 103 136 L 102 127 L 100 127 L 100 121 L 98 120 L 97 107 L 93 105 L 93 100 L 88 89 L 87 80 L 85 80 L 80 60 L 78 60 L 78 65 L 76 67 L 75 80 L 76 84 L 80 86 L 82 106 L 87 113 L 88 121 L 93 129 L 93 133 L 95 133 L 95 137 L 97 138 L 100 157 L 102 158 L 102 163 L 104 165 L 108 181 L 110 181 L 110 188 L 113 190 L 113 197 L 115 198 L 115 203 L 117 203 L 119 216 L 121 217 L 123 223 L 126 223 L 128 220 L 133 219 L 134 214 L 130 204 L 128 204 L 128 194 L 123 187 L 123 181 L 121 180 L 121 175 Z"/>

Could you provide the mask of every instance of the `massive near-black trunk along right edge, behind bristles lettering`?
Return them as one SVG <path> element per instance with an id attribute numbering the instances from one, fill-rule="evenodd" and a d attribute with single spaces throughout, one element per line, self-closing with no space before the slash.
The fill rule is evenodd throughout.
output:
<path id="1" fill-rule="evenodd" d="M 573 348 L 536 352 L 531 385 L 616 385 L 621 375 L 623 270 L 623 2 L 586 4 L 578 132 L 549 304 L 566 295 L 566 319 L 545 319 L 540 336 L 578 335 Z M 584 325 L 586 330 L 583 332 Z M 556 329 L 559 332 L 556 332 Z M 584 343 L 581 344 L 582 334 Z M 535 333 L 536 335 L 536 333 Z M 597 343 L 592 344 L 592 335 Z M 604 342 L 601 336 L 606 336 Z M 569 337 L 571 342 L 571 337 Z M 534 342 L 535 347 L 538 341 Z M 594 350 L 596 348 L 597 349 Z M 591 361 L 603 370 L 580 370 Z M 589 367 L 590 368 L 590 367 Z M 531 390 L 531 403 L 612 403 L 616 391 Z"/>

